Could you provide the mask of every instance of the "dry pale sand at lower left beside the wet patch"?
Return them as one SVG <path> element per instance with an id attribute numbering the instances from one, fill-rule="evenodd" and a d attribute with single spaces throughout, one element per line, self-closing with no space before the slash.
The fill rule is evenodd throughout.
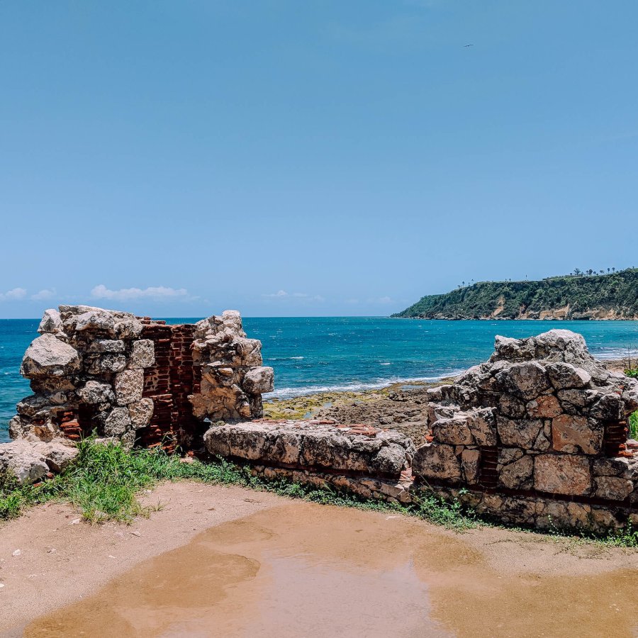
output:
<path id="1" fill-rule="evenodd" d="M 133 525 L 89 525 L 57 503 L 33 508 L 0 525 L 0 635 L 82 598 L 150 556 L 188 543 L 208 527 L 274 507 L 278 500 L 267 492 L 183 481 L 164 483 L 145 496 L 161 510 Z"/>

